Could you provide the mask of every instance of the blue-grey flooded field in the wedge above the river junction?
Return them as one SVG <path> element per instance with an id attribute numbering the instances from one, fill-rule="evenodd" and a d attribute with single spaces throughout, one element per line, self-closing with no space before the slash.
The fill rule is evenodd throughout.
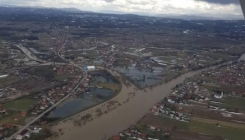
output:
<path id="1" fill-rule="evenodd" d="M 137 68 L 134 66 L 130 66 L 114 67 L 114 69 L 119 73 L 123 73 L 124 75 L 126 75 L 141 88 L 149 85 L 154 85 L 164 80 L 162 73 L 165 69 L 163 67 Z"/>

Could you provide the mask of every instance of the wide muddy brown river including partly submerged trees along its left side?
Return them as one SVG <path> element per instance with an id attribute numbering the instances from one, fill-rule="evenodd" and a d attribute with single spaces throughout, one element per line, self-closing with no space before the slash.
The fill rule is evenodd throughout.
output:
<path id="1" fill-rule="evenodd" d="M 240 58 L 245 58 L 244 56 L 242 55 Z M 135 90 L 136 88 L 133 85 L 127 87 L 123 84 L 122 91 L 110 101 L 81 112 L 67 121 L 51 126 L 51 130 L 56 132 L 57 135 L 48 138 L 48 140 L 108 139 L 110 136 L 128 128 L 131 124 L 135 124 L 149 112 L 150 107 L 169 95 L 176 84 L 180 84 L 186 78 L 217 66 L 188 72 L 152 89 Z M 108 105 L 112 102 L 114 102 L 114 105 L 108 108 Z M 100 112 L 102 114 L 98 115 Z M 87 116 L 86 121 L 84 121 L 84 116 Z"/>

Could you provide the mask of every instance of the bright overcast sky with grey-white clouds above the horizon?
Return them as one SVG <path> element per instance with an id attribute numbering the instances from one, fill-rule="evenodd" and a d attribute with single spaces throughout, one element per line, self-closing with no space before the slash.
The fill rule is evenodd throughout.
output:
<path id="1" fill-rule="evenodd" d="M 152 14 L 242 14 L 238 0 L 0 0 L 0 4 Z"/>

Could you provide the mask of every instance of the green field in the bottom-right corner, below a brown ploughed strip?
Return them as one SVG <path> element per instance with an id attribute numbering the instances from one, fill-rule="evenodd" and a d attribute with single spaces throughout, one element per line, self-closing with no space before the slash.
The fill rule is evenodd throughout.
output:
<path id="1" fill-rule="evenodd" d="M 189 129 L 191 132 L 222 136 L 227 140 L 243 140 L 245 138 L 245 129 L 225 126 L 217 127 L 215 124 L 198 121 L 192 121 Z"/>

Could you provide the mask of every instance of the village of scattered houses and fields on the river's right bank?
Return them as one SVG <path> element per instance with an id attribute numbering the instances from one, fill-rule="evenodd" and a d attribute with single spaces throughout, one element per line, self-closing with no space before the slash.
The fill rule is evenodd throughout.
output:
<path id="1" fill-rule="evenodd" d="M 178 139 L 176 131 L 195 133 L 196 138 L 201 135 L 201 132 L 206 132 L 205 134 L 214 135 L 214 140 L 241 139 L 244 137 L 245 129 L 243 126 L 245 122 L 244 66 L 244 60 L 235 61 L 186 79 L 184 83 L 176 85 L 171 95 L 153 106 L 149 114 L 142 118 L 136 126 L 148 126 L 152 133 L 155 131 L 153 128 L 168 130 L 165 138 L 162 137 L 166 136 L 166 132 L 161 132 L 159 136 L 155 135 L 155 139 L 159 140 L 168 139 L 168 137 Z M 167 120 L 173 124 L 167 123 Z M 197 123 L 209 125 L 210 128 L 216 127 L 215 129 L 222 137 L 216 137 L 217 132 L 209 131 L 204 126 L 198 125 L 196 127 L 199 128 L 195 130 L 183 128 L 183 126 L 192 127 Z M 236 136 L 226 134 L 226 129 L 236 131 Z M 128 135 L 129 130 L 134 133 Z M 118 136 L 112 137 L 112 140 L 124 139 L 125 136 L 130 139 L 153 139 L 147 137 L 151 135 L 149 133 L 145 137 L 142 137 L 139 132 L 136 136 L 134 134 L 135 131 L 129 128 L 119 133 Z M 188 138 L 191 137 L 185 135 L 182 139 Z M 195 137 L 192 136 L 192 138 Z M 212 139 L 211 136 L 209 139 Z"/>

